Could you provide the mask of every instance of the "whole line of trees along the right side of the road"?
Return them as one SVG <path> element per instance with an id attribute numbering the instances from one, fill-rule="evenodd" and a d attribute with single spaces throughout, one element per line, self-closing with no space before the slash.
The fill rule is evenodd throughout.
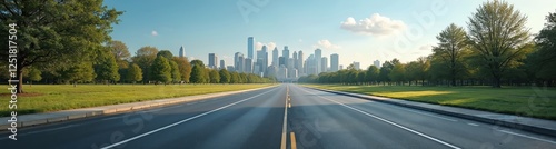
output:
<path id="1" fill-rule="evenodd" d="M 488 1 L 469 17 L 467 31 L 449 24 L 436 37 L 433 53 L 381 68 L 353 66 L 299 78 L 299 82 L 398 86 L 548 86 L 556 85 L 556 12 L 535 36 L 527 18 L 505 1 Z"/>

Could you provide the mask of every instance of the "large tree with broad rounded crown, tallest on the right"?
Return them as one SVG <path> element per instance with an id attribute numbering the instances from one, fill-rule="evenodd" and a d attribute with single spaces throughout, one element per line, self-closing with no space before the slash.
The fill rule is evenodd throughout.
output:
<path id="1" fill-rule="evenodd" d="M 503 73 L 510 63 L 526 54 L 523 48 L 529 39 L 526 21 L 514 6 L 498 0 L 483 3 L 469 18 L 469 43 L 494 79 L 495 88 L 500 88 Z"/>

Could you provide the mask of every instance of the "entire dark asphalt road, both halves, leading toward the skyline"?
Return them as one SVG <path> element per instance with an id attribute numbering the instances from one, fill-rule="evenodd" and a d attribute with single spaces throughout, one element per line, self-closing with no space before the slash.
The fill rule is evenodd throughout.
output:
<path id="1" fill-rule="evenodd" d="M 0 136 L 17 149 L 556 148 L 556 138 L 297 85 Z"/>

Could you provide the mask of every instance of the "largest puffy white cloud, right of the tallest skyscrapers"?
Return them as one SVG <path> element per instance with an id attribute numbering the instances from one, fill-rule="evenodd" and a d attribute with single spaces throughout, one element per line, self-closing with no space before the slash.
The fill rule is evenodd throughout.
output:
<path id="1" fill-rule="evenodd" d="M 388 36 L 406 29 L 406 24 L 400 20 L 393 20 L 374 13 L 370 18 L 359 21 L 349 17 L 346 21 L 341 22 L 341 29 L 368 36 Z"/>

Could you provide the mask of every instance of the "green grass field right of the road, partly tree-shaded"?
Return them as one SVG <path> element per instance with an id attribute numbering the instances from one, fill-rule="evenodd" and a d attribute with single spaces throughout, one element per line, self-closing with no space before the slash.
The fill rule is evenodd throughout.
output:
<path id="1" fill-rule="evenodd" d="M 305 86 L 556 120 L 556 88 Z"/>

